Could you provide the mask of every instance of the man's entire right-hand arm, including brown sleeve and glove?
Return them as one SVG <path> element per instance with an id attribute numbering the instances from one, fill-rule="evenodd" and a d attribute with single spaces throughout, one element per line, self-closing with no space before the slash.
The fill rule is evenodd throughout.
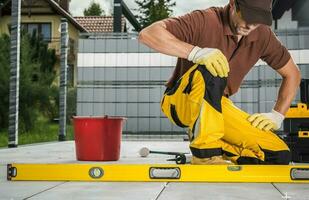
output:
<path id="1" fill-rule="evenodd" d="M 262 27 L 263 28 L 263 27 Z M 255 113 L 248 118 L 252 126 L 268 131 L 278 130 L 284 120 L 293 98 L 299 87 L 301 75 L 297 65 L 293 62 L 287 48 L 282 45 L 269 27 L 264 27 L 264 48 L 261 59 L 276 70 L 283 78 L 277 102 L 271 112 Z"/>

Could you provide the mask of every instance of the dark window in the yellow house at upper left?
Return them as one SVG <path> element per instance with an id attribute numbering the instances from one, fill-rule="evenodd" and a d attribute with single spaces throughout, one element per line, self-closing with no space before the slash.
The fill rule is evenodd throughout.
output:
<path id="1" fill-rule="evenodd" d="M 51 23 L 22 23 L 21 29 L 31 35 L 41 35 L 46 42 L 51 41 Z"/>

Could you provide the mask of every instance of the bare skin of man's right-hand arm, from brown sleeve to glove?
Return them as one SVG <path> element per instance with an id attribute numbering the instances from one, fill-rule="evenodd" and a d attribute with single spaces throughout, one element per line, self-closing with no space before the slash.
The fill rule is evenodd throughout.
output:
<path id="1" fill-rule="evenodd" d="M 290 58 L 286 65 L 278 69 L 277 72 L 282 76 L 283 80 L 274 110 L 285 115 L 298 90 L 301 73 L 292 58 Z"/>

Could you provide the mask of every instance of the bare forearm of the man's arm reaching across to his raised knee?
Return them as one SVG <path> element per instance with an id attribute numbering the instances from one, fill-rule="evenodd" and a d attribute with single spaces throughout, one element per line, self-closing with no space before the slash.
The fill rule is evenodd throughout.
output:
<path id="1" fill-rule="evenodd" d="M 185 59 L 194 47 L 178 40 L 166 30 L 162 21 L 143 29 L 139 34 L 139 41 L 160 53 Z"/>

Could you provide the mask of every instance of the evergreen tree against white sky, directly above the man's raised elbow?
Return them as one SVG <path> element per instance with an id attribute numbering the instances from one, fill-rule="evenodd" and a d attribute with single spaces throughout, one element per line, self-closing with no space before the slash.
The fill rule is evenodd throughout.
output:
<path id="1" fill-rule="evenodd" d="M 136 18 L 142 27 L 170 17 L 173 14 L 172 7 L 176 6 L 172 0 L 135 0 L 135 3 L 139 6 Z"/>

